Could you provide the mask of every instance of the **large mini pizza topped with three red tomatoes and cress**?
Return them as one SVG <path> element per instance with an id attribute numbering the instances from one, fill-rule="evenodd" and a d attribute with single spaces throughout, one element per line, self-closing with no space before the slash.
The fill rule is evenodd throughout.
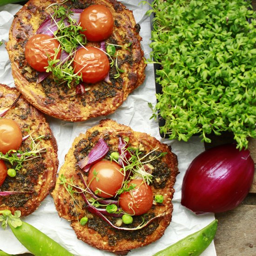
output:
<path id="1" fill-rule="evenodd" d="M 145 79 L 139 31 L 116 0 L 29 0 L 7 43 L 15 86 L 56 118 L 111 114 Z"/>

